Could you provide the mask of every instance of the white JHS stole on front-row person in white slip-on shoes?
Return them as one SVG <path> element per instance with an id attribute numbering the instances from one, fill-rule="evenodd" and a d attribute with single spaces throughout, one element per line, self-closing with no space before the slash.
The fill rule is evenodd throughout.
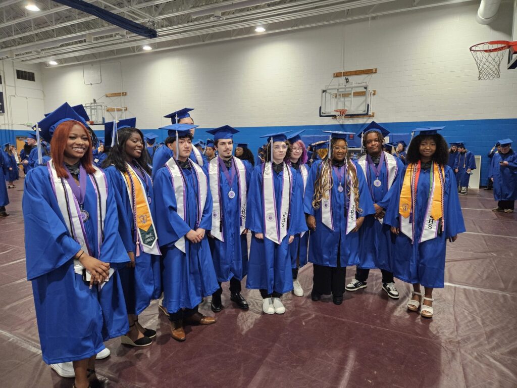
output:
<path id="1" fill-rule="evenodd" d="M 287 163 L 283 163 L 282 173 L 282 199 L 280 202 L 280 220 L 277 222 L 278 213 L 275 201 L 275 186 L 273 184 L 272 162 L 265 162 L 262 165 L 262 198 L 264 204 L 264 235 L 277 244 L 281 244 L 287 235 L 287 219 L 289 217 L 289 205 L 293 177 Z"/>

